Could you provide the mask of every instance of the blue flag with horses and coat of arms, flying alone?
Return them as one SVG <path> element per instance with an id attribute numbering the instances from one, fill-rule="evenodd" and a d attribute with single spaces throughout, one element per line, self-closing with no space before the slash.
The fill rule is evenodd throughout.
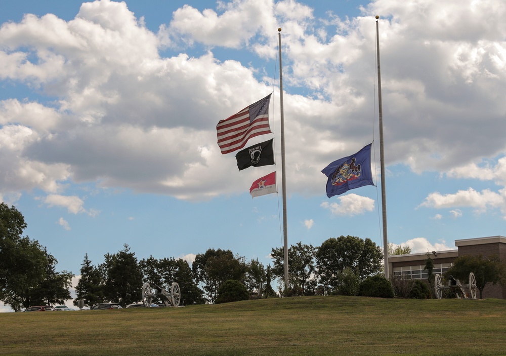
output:
<path id="1" fill-rule="evenodd" d="M 364 185 L 374 185 L 371 173 L 371 146 L 368 144 L 351 156 L 332 162 L 322 169 L 328 177 L 327 196 L 331 197 Z"/>

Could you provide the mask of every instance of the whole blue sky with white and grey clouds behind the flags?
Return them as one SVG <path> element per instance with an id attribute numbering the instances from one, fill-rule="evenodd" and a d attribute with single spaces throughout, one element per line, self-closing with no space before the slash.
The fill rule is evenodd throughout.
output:
<path id="1" fill-rule="evenodd" d="M 380 15 L 388 239 L 413 252 L 506 230 L 506 8 L 485 0 L 16 2 L 0 13 L 0 200 L 79 274 L 208 248 L 271 263 L 274 167 L 237 170 L 216 124 L 274 91 L 282 28 L 288 244 L 383 244 L 381 188 L 328 199 L 321 170 L 374 139 Z M 52 15 L 51 15 L 52 14 Z M 272 137 L 251 139 L 254 144 Z M 281 191 L 281 187 L 278 187 Z"/>

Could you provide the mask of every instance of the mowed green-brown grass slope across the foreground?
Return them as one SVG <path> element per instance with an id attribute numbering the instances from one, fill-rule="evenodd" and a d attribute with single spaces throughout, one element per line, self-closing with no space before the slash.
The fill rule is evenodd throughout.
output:
<path id="1" fill-rule="evenodd" d="M 506 355 L 506 300 L 316 296 L 0 314 L 0 355 Z"/>

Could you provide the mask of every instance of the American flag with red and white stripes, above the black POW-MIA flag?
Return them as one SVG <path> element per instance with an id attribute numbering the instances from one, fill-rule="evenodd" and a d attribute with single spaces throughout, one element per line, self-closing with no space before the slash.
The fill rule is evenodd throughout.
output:
<path id="1" fill-rule="evenodd" d="M 216 130 L 222 154 L 244 147 L 251 137 L 272 133 L 269 127 L 270 99 L 271 94 L 235 115 L 220 120 Z"/>

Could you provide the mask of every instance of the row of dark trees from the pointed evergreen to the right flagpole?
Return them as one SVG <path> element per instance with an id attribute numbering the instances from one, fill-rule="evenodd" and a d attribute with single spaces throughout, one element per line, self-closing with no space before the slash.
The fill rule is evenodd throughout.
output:
<path id="1" fill-rule="evenodd" d="M 264 266 L 258 259 L 246 261 L 222 249 L 208 249 L 196 255 L 191 267 L 187 261 L 175 258 L 150 256 L 138 261 L 128 245 L 104 257 L 104 263 L 94 266 L 85 255 L 81 264 L 76 300 L 82 299 L 85 305 L 108 301 L 125 306 L 137 302 L 145 282 L 165 290 L 177 282 L 184 305 L 215 303 L 220 287 L 230 280 L 240 282 L 250 296 L 257 298 L 323 295 L 342 289 L 349 271 L 360 283 L 383 269 L 381 249 L 370 239 L 355 236 L 331 238 L 317 248 L 301 242 L 292 245 L 288 250 L 289 287 L 280 282 L 278 293 L 272 288 L 272 281 L 283 281 L 282 248 L 272 249 L 272 267 Z"/>

